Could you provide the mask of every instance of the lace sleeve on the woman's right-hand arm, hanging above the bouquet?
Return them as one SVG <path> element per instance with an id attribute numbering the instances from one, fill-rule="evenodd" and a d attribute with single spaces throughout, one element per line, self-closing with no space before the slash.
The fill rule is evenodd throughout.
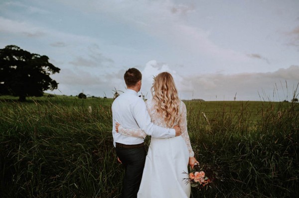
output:
<path id="1" fill-rule="evenodd" d="M 180 118 L 179 118 L 179 127 L 181 128 L 181 132 L 182 132 L 181 136 L 183 137 L 183 139 L 185 140 L 185 142 L 187 144 L 188 151 L 189 151 L 189 157 L 194 157 L 194 152 L 192 150 L 189 134 L 187 131 L 187 110 L 186 110 L 186 105 L 183 102 L 181 102 L 181 113 L 180 113 Z"/>

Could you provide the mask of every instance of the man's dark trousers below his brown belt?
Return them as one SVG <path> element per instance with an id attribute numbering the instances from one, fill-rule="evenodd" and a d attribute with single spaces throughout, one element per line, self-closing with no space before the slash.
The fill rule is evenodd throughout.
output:
<path id="1" fill-rule="evenodd" d="M 137 198 L 146 161 L 145 147 L 116 147 L 116 154 L 125 167 L 122 198 Z"/>

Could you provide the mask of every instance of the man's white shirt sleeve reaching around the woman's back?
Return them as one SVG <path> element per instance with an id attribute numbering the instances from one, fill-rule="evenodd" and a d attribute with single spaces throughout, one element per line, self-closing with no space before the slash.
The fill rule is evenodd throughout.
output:
<path id="1" fill-rule="evenodd" d="M 146 134 L 155 138 L 169 138 L 175 136 L 174 129 L 159 127 L 151 122 L 146 103 L 142 98 L 139 98 L 132 109 L 137 124 Z"/>

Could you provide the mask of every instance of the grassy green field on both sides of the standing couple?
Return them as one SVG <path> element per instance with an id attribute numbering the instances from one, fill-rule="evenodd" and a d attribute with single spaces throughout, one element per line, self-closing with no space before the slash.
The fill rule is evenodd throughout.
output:
<path id="1" fill-rule="evenodd" d="M 0 197 L 117 198 L 123 169 L 112 145 L 111 104 L 1 96 Z M 225 176 L 217 188 L 192 189 L 192 198 L 299 197 L 298 103 L 185 104 L 197 160 Z"/>

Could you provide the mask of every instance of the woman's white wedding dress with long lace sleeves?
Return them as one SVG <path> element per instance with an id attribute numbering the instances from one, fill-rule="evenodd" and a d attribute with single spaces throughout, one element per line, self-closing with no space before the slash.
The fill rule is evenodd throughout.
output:
<path id="1" fill-rule="evenodd" d="M 147 108 L 151 122 L 167 128 L 164 119 L 154 109 L 152 100 L 147 101 Z M 178 123 L 173 126 L 180 126 L 180 136 L 166 139 L 151 137 L 138 198 L 190 197 L 191 187 L 184 178 L 189 177 L 185 173 L 188 173 L 189 157 L 193 157 L 194 152 L 187 132 L 186 106 L 183 102 L 180 102 L 179 116 Z M 142 130 L 124 129 L 121 126 L 119 132 L 131 136 L 146 135 Z"/>

